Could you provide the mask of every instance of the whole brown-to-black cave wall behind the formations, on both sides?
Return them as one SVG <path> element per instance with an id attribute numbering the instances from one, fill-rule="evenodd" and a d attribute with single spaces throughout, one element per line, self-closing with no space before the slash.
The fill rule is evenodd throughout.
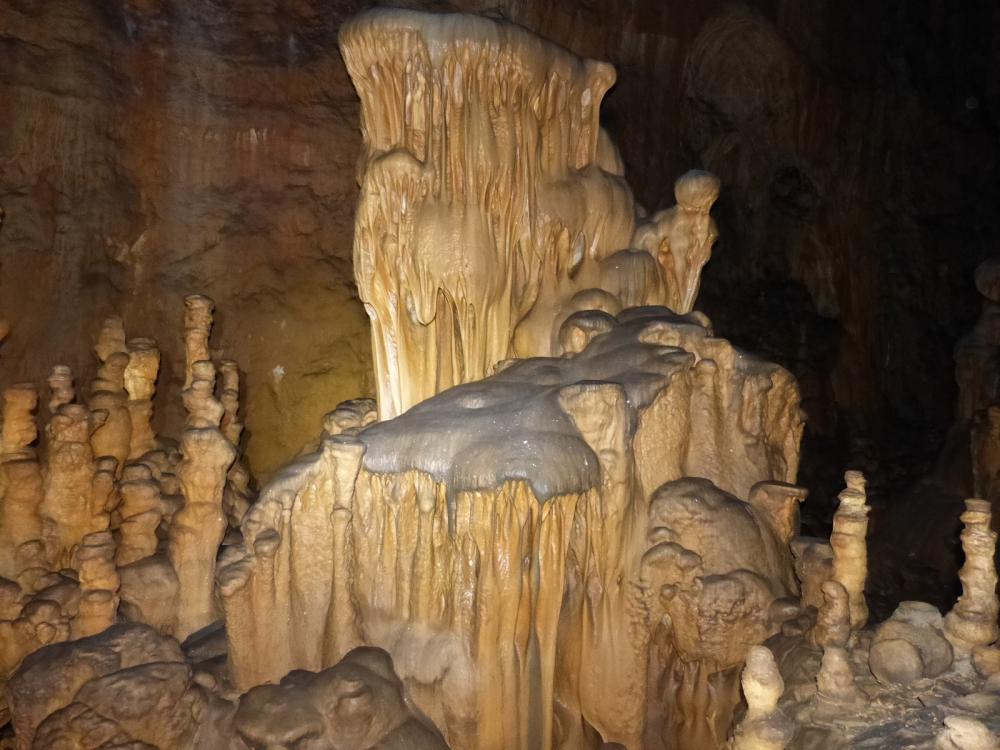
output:
<path id="1" fill-rule="evenodd" d="M 2 384 L 57 361 L 85 382 L 117 310 L 161 340 L 176 387 L 197 290 L 247 373 L 258 473 L 371 392 L 349 260 L 358 105 L 336 46 L 370 4 L 0 0 Z M 936 453 L 998 234 L 993 3 L 387 4 L 500 15 L 611 61 L 605 125 L 648 209 L 684 169 L 722 178 L 700 306 L 800 378 L 821 500 L 843 463 L 874 471 L 877 497 Z"/>

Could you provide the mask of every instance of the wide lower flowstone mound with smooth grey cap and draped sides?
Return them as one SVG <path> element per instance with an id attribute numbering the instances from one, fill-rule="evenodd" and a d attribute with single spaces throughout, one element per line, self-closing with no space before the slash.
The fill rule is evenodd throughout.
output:
<path id="1" fill-rule="evenodd" d="M 614 326 L 360 431 L 335 411 L 224 557 L 236 683 L 369 644 L 455 748 L 637 747 L 647 705 L 665 746 L 714 747 L 747 648 L 797 611 L 797 392 L 701 319 Z"/>

